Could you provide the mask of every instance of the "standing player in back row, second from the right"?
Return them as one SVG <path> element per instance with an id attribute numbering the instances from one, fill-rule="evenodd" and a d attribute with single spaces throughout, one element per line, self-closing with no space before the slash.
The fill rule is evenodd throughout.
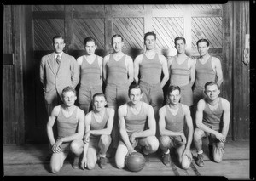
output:
<path id="1" fill-rule="evenodd" d="M 174 44 L 177 55 L 168 61 L 170 85 L 178 86 L 181 89 L 180 102 L 190 108 L 193 105 L 192 86 L 195 82 L 195 61 L 185 54 L 185 38 L 176 37 Z"/>

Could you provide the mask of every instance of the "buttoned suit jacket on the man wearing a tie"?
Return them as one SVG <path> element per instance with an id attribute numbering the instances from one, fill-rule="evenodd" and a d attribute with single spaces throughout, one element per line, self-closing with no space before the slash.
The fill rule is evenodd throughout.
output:
<path id="1" fill-rule="evenodd" d="M 63 88 L 76 88 L 79 83 L 79 65 L 73 56 L 63 52 L 59 69 L 55 70 L 54 53 L 47 54 L 41 59 L 40 80 L 44 85 L 44 99 L 51 104 L 56 92 L 61 96 Z"/>

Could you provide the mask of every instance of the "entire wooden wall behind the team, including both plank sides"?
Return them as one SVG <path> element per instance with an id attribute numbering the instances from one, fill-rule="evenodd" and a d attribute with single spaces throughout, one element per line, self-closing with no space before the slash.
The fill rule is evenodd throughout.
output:
<path id="1" fill-rule="evenodd" d="M 244 2 L 190 5 L 15 6 L 20 9 L 20 20 L 23 19 L 26 22 L 25 25 L 20 25 L 20 33 L 23 33 L 20 39 L 24 39 L 21 48 L 25 52 L 20 62 L 24 74 L 22 75 L 24 79 L 22 87 L 24 88 L 23 117 L 25 121 L 20 122 L 20 124 L 23 122 L 25 126 L 21 129 L 25 137 L 24 142 L 45 143 L 47 139 L 44 93 L 38 73 L 41 57 L 52 51 L 51 42 L 55 34 L 64 35 L 65 51 L 78 58 L 84 54 L 84 37 L 95 37 L 98 42 L 96 54 L 104 56 L 112 51 L 111 37 L 119 33 L 125 39 L 124 52 L 135 58 L 137 54 L 143 52 L 143 34 L 147 31 L 154 31 L 157 34 L 157 48 L 166 57 L 176 54 L 173 40 L 177 36 L 186 38 L 187 54 L 192 58 L 198 56 L 195 44 L 198 39 L 207 38 L 211 42 L 210 54 L 221 59 L 224 71 L 221 96 L 231 103 L 229 137 L 248 139 L 249 113 L 246 109 L 249 104 L 248 66 L 241 64 L 243 36 L 248 25 L 240 23 L 242 22 L 240 20 L 245 17 L 242 12 L 249 14 L 249 9 L 242 8 L 244 7 L 241 6 L 242 4 L 248 6 L 248 3 Z M 8 11 L 12 7 L 6 6 L 5 9 Z M 9 18 L 15 15 L 10 14 Z M 8 21 L 8 17 L 5 20 Z M 4 30 L 10 31 L 8 27 L 4 27 Z M 15 37 L 15 35 L 8 36 L 9 34 L 6 33 L 4 38 L 6 41 L 8 38 Z M 21 53 L 17 52 L 17 54 Z M 7 75 L 14 76 L 13 73 L 8 74 L 7 67 L 8 65 L 5 65 L 3 68 L 6 77 L 3 81 L 9 82 L 9 79 L 12 79 L 15 84 L 14 78 L 7 78 Z M 3 94 L 11 93 L 10 91 L 15 94 L 13 83 L 9 83 L 10 88 L 6 87 Z M 236 88 L 236 85 L 242 86 Z M 244 93 L 243 97 L 237 96 L 238 93 Z M 11 100 L 4 99 L 4 102 L 15 104 L 15 97 Z M 12 119 L 15 122 L 15 116 L 9 113 L 12 106 L 5 105 L 3 108 L 5 110 L 4 128 L 9 130 L 4 132 L 5 144 L 17 143 L 13 141 L 17 130 L 12 127 L 11 122 L 7 121 L 13 116 Z M 10 139 L 8 139 L 10 134 L 12 137 L 9 136 Z"/>

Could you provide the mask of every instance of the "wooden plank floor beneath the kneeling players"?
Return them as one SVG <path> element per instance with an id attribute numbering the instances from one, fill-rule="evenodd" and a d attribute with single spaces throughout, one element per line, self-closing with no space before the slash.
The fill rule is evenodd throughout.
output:
<path id="1" fill-rule="evenodd" d="M 150 156 L 150 162 L 138 173 L 115 167 L 113 159 L 102 170 L 96 166 L 93 170 L 73 169 L 70 160 L 65 161 L 60 173 L 49 173 L 49 161 L 45 161 L 48 153 L 47 144 L 26 144 L 24 146 L 3 146 L 4 176 L 224 176 L 228 179 L 250 179 L 249 141 L 228 141 L 225 144 L 224 159 L 221 163 L 212 162 L 208 158 L 207 144 L 203 150 L 205 166 L 198 167 L 195 160 L 188 170 L 179 168 L 175 158 L 172 166 L 166 167 L 156 154 Z M 196 156 L 192 149 L 193 156 Z"/>

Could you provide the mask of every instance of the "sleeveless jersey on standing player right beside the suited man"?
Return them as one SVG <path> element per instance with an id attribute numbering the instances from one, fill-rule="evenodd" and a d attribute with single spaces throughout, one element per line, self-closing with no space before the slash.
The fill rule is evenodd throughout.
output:
<path id="1" fill-rule="evenodd" d="M 100 76 L 101 69 L 98 64 L 98 56 L 94 59 L 92 64 L 83 56 L 83 63 L 80 68 L 81 88 L 101 86 Z"/>

